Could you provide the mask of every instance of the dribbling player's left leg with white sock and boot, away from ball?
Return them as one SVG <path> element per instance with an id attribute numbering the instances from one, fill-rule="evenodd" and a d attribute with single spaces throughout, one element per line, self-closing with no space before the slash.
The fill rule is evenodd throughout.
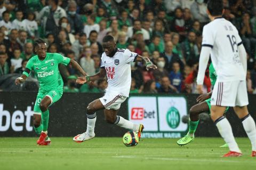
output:
<path id="1" fill-rule="evenodd" d="M 104 109 L 103 104 L 100 99 L 96 99 L 93 102 L 89 103 L 86 108 L 86 116 L 87 116 L 87 129 L 86 132 L 82 134 L 78 134 L 73 137 L 74 142 L 83 142 L 85 140 L 92 139 L 95 136 L 94 127 L 96 123 L 96 111 Z"/>

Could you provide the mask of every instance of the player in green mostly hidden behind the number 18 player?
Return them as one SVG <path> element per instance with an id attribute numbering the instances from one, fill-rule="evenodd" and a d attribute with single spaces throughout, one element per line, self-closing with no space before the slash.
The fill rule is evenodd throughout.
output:
<path id="1" fill-rule="evenodd" d="M 210 67 L 209 67 L 209 76 L 211 79 L 211 84 L 212 86 L 214 86 L 217 80 L 217 73 L 213 68 L 212 63 L 210 64 Z M 202 114 L 203 112 L 208 112 L 210 114 L 211 95 L 212 95 L 212 91 L 198 96 L 196 101 L 199 103 L 191 107 L 191 109 L 189 110 L 189 123 L 188 123 L 189 131 L 187 135 L 185 135 L 184 137 L 182 137 L 180 140 L 177 141 L 177 144 L 186 145 L 195 139 L 194 133 L 196 132 L 196 128 L 199 123 L 199 114 Z M 228 107 L 226 111 L 227 110 L 228 110 Z M 228 145 L 224 144 L 221 147 L 228 147 Z"/>

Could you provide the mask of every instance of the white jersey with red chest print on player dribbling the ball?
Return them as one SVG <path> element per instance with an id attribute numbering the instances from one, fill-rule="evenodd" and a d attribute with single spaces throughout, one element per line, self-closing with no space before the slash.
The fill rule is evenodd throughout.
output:
<path id="1" fill-rule="evenodd" d="M 129 97 L 131 88 L 131 62 L 137 57 L 128 49 L 117 49 L 113 57 L 106 53 L 101 56 L 101 68 L 105 68 L 108 78 L 106 93 L 120 94 Z"/>

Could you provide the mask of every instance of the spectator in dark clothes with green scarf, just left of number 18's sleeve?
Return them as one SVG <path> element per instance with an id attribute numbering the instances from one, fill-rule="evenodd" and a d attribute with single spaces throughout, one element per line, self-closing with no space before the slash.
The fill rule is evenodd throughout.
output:
<path id="1" fill-rule="evenodd" d="M 199 61 L 199 50 L 196 44 L 196 34 L 193 31 L 189 31 L 188 38 L 181 44 L 181 48 L 184 54 L 186 63 L 189 66 Z"/>

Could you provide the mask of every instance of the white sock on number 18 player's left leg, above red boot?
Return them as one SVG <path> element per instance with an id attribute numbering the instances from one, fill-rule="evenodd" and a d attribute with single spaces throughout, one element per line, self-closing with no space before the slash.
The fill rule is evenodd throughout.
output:
<path id="1" fill-rule="evenodd" d="M 238 145 L 235 141 L 235 137 L 232 132 L 232 128 L 228 122 L 228 119 L 226 117 L 222 116 L 215 120 L 215 125 L 217 126 L 220 135 L 225 140 L 225 142 L 228 144 L 230 151 L 235 151 L 242 153 L 241 150 L 238 148 Z"/>

